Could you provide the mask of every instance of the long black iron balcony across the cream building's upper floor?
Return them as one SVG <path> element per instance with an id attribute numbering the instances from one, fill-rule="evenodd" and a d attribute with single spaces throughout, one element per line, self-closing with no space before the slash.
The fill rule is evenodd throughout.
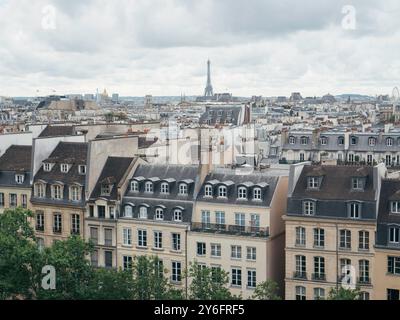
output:
<path id="1" fill-rule="evenodd" d="M 253 236 L 253 237 L 269 236 L 268 227 L 261 228 L 261 227 L 251 227 L 251 226 L 193 222 L 191 225 L 191 230 L 197 232 L 225 233 L 225 234 Z"/>

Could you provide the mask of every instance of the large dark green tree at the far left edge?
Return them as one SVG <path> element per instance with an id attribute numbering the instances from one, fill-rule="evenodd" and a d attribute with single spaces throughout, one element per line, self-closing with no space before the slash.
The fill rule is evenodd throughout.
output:
<path id="1" fill-rule="evenodd" d="M 0 299 L 34 297 L 41 259 L 29 223 L 32 217 L 22 208 L 0 215 Z"/>

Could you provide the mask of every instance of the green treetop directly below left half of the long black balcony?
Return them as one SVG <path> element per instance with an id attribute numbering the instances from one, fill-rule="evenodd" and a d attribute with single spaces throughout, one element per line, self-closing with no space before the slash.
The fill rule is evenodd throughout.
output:
<path id="1" fill-rule="evenodd" d="M 191 278 L 189 299 L 192 300 L 229 300 L 232 296 L 227 288 L 228 273 L 220 268 L 211 269 L 195 261 L 190 264 L 186 277 Z"/>

